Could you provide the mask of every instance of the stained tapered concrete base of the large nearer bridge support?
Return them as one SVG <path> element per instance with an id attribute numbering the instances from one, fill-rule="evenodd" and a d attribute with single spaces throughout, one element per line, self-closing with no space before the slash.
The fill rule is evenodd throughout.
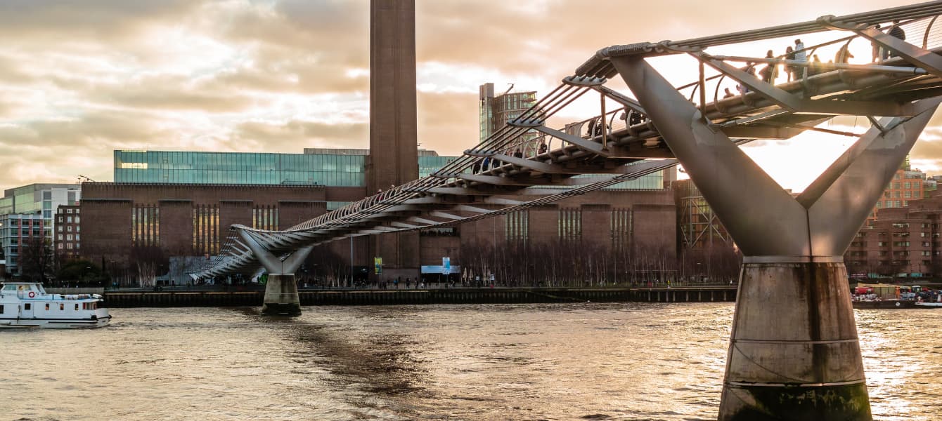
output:
<path id="1" fill-rule="evenodd" d="M 872 420 L 844 264 L 746 259 L 720 421 Z"/>

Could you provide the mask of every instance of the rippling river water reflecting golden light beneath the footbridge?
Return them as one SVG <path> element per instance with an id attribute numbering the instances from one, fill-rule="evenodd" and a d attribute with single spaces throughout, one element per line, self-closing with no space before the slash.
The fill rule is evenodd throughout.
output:
<path id="1" fill-rule="evenodd" d="M 0 419 L 711 420 L 732 303 L 124 308 L 0 332 Z M 856 310 L 875 419 L 942 419 L 942 310 Z"/>

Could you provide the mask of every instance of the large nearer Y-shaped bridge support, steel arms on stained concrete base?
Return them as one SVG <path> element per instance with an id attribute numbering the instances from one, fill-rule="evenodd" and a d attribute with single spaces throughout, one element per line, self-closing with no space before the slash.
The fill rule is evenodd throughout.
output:
<path id="1" fill-rule="evenodd" d="M 642 57 L 610 59 L 744 256 L 720 420 L 870 420 L 842 255 L 939 100 L 882 119 L 793 197 Z"/>

